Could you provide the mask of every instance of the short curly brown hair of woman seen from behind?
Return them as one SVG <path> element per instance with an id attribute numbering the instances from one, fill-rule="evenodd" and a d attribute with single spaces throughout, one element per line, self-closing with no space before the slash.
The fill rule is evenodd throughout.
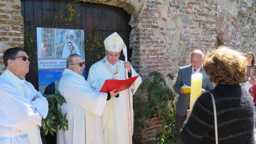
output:
<path id="1" fill-rule="evenodd" d="M 217 85 L 238 84 L 246 79 L 247 58 L 230 47 L 219 46 L 205 55 L 203 69 Z"/>

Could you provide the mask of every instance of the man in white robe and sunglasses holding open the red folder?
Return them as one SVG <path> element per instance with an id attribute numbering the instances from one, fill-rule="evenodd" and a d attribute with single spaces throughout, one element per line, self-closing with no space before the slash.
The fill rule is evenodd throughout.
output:
<path id="1" fill-rule="evenodd" d="M 68 130 L 58 131 L 57 143 L 104 144 L 100 116 L 106 102 L 119 91 L 94 92 L 82 75 L 84 62 L 78 54 L 68 56 L 66 65 L 58 90 L 67 101 L 60 108 L 63 114 L 67 113 Z"/>

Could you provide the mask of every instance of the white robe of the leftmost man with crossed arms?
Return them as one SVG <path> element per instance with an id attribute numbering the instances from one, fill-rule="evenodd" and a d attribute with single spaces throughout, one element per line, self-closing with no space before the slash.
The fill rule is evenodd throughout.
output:
<path id="1" fill-rule="evenodd" d="M 35 96 L 39 98 L 32 101 Z M 0 76 L 0 143 L 29 144 L 27 130 L 35 128 L 42 144 L 38 125 L 46 118 L 48 102 L 33 85 L 9 70 Z"/>

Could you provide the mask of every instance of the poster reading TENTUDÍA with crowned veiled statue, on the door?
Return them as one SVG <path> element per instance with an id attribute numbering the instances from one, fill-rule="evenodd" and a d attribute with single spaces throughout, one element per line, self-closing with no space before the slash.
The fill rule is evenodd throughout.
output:
<path id="1" fill-rule="evenodd" d="M 74 29 L 36 28 L 38 85 L 42 94 L 55 94 L 70 54 L 85 61 L 84 32 Z M 85 70 L 82 74 L 85 77 Z"/>

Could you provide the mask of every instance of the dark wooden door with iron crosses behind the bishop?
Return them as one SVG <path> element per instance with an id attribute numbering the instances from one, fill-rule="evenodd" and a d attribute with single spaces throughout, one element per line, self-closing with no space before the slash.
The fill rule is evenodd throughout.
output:
<path id="1" fill-rule="evenodd" d="M 68 21 L 68 25 L 64 22 L 53 23 L 54 18 L 62 6 L 65 6 L 61 0 L 21 0 L 22 16 L 24 18 L 25 29 L 29 33 L 35 33 L 33 47 L 36 51 L 36 27 L 59 28 L 59 29 L 83 29 L 85 41 L 89 35 L 101 34 L 102 41 L 113 32 L 117 32 L 127 45 L 128 60 L 132 50 L 129 49 L 129 33 L 131 27 L 129 15 L 122 8 L 109 6 L 105 4 L 79 2 L 74 6 L 77 14 L 80 14 L 76 21 Z M 66 13 L 68 10 L 64 10 Z M 68 13 L 66 13 L 68 15 Z M 65 19 L 63 15 L 62 19 Z M 100 51 L 104 51 L 102 47 Z M 86 52 L 86 51 L 85 51 Z M 94 63 L 104 57 L 104 54 L 97 58 L 95 56 Z M 121 54 L 121 60 L 124 56 Z M 86 67 L 88 69 L 88 66 Z M 38 74 L 30 69 L 26 75 L 26 80 L 31 82 L 38 90 Z"/>

